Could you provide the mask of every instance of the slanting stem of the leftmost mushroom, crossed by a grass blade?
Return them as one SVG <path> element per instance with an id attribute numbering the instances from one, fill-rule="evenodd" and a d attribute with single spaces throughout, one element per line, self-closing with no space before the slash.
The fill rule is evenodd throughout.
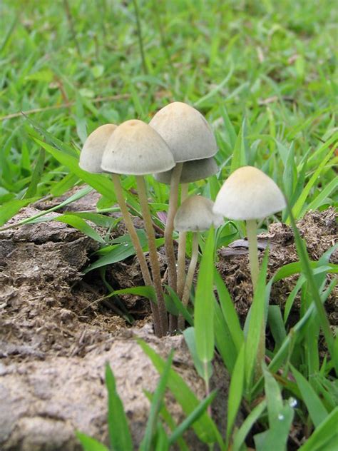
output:
<path id="1" fill-rule="evenodd" d="M 130 235 L 131 242 L 133 243 L 133 246 L 135 248 L 135 252 L 138 258 L 138 262 L 140 263 L 140 270 L 142 273 L 143 280 L 145 282 L 145 285 L 153 285 L 153 281 L 151 280 L 150 273 L 148 270 L 148 265 L 145 260 L 145 256 L 143 253 L 143 250 L 140 245 L 140 240 L 138 239 L 138 235 L 136 233 L 135 227 L 133 225 L 133 221 L 130 217 L 126 200 L 123 196 L 123 191 L 121 187 L 120 182 L 120 176 L 118 174 L 112 173 L 111 178 L 113 180 L 116 198 L 118 199 L 118 205 L 120 206 L 122 217 L 124 222 L 126 223 L 126 228 L 128 230 L 128 233 Z M 160 325 L 160 313 L 158 310 L 158 305 L 156 305 L 153 302 L 150 302 L 151 312 L 153 313 L 153 321 L 154 321 L 154 329 L 155 329 L 155 335 L 160 337 L 163 335 Z"/>

